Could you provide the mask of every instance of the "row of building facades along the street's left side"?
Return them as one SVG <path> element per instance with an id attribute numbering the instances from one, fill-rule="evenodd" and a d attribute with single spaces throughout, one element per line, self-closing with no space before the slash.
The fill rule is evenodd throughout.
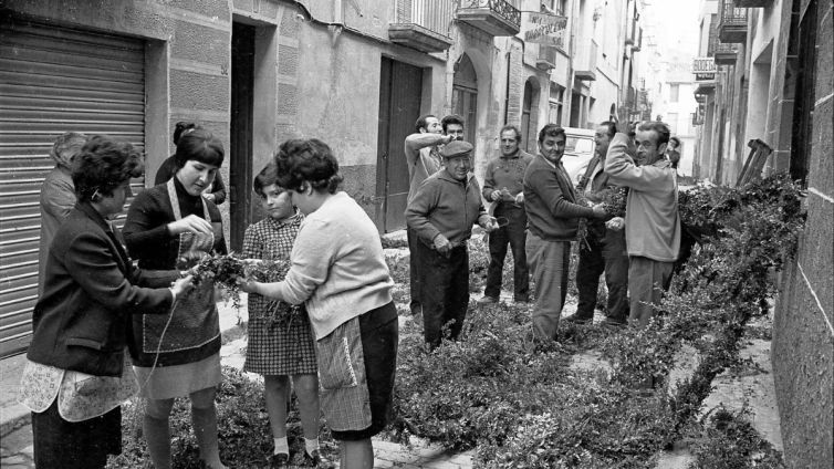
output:
<path id="1" fill-rule="evenodd" d="M 239 251 L 259 219 L 252 177 L 294 137 L 326 142 L 380 232 L 405 227 L 403 143 L 456 113 L 476 175 L 518 125 L 586 127 L 634 107 L 642 0 L 7 0 L 0 6 L 0 356 L 24 350 L 37 301 L 39 190 L 63 132 L 145 152 L 147 187 L 194 121 L 227 149 L 220 206 Z M 557 45 L 531 12 L 564 17 Z M 630 93 L 630 94 L 629 94 Z"/>

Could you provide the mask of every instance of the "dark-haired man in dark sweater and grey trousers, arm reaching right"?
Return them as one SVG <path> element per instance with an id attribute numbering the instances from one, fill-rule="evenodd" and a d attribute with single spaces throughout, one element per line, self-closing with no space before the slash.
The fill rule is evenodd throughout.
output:
<path id="1" fill-rule="evenodd" d="M 535 282 L 533 335 L 556 340 L 559 319 L 567 293 L 571 241 L 580 218 L 602 219 L 602 206 L 583 207 L 562 165 L 565 131 L 548 124 L 539 132 L 539 155 L 524 173 L 524 209 L 528 216 L 525 251 Z"/>

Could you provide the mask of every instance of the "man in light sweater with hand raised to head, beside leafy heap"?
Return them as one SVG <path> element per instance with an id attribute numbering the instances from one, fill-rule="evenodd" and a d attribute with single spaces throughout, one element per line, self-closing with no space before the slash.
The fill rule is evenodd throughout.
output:
<path id="1" fill-rule="evenodd" d="M 678 184 L 675 169 L 664 159 L 669 127 L 645 122 L 637 127 L 637 158 L 627 155 L 628 136 L 617 134 L 608 147 L 605 173 L 611 181 L 629 188 L 626 202 L 628 248 L 629 321 L 648 324 L 656 314 L 651 304 L 660 302 L 669 289 L 680 249 Z"/>

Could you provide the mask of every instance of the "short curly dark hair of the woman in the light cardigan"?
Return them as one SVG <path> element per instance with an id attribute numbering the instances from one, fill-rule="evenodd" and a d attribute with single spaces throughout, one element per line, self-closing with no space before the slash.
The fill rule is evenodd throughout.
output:
<path id="1" fill-rule="evenodd" d="M 338 161 L 327 144 L 317 138 L 295 138 L 281 144 L 275 154 L 277 183 L 300 192 L 304 181 L 320 192 L 336 194 L 342 183 Z"/>

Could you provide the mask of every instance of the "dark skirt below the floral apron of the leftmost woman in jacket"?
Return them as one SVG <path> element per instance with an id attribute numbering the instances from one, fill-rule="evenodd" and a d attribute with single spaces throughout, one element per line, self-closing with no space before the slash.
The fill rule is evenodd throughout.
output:
<path id="1" fill-rule="evenodd" d="M 72 423 L 61 418 L 55 398 L 46 410 L 32 413 L 32 435 L 38 468 L 104 468 L 107 455 L 122 452 L 122 407 Z"/>

